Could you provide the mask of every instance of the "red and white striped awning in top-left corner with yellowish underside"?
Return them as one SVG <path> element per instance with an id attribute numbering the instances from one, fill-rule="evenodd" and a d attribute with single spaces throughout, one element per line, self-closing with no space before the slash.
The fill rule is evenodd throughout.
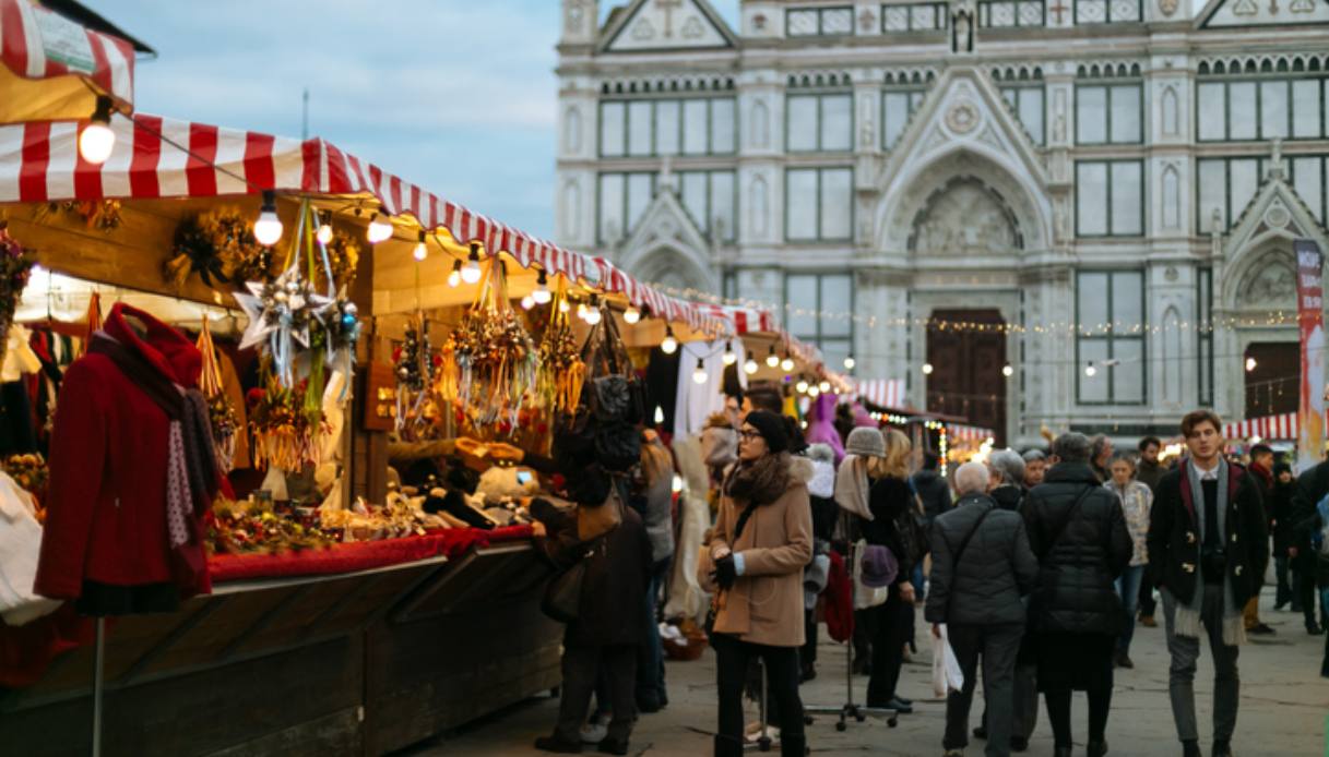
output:
<path id="1" fill-rule="evenodd" d="M 134 48 L 31 0 L 0 0 L 0 124 L 92 116 L 97 96 L 134 108 Z"/>

